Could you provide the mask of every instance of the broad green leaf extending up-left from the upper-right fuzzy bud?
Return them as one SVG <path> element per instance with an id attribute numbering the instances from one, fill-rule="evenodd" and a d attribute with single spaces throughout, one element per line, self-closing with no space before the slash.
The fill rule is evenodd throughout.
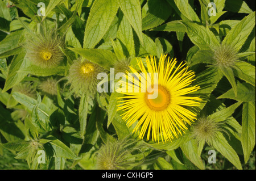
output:
<path id="1" fill-rule="evenodd" d="M 200 49 L 210 50 L 220 46 L 216 36 L 208 27 L 196 23 L 182 22 L 187 27 L 189 39 Z"/>

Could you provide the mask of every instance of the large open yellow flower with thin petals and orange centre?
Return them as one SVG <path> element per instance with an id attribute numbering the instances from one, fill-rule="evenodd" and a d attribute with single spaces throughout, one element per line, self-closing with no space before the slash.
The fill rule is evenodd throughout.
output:
<path id="1" fill-rule="evenodd" d="M 160 57 L 158 66 L 154 57 L 146 57 L 148 73 L 158 73 L 158 89 L 153 89 L 158 91 L 156 98 L 149 99 L 148 95 L 152 93 L 148 91 L 127 92 L 121 89 L 125 96 L 122 97 L 123 100 L 120 101 L 118 110 L 125 111 L 121 116 L 123 120 L 127 121 L 128 127 L 137 124 L 133 132 L 137 132 L 141 128 L 139 133 L 141 139 L 147 132 L 147 140 L 151 136 L 152 141 L 159 142 L 159 138 L 163 142 L 172 141 L 174 136 L 178 137 L 179 134 L 185 133 L 185 130 L 188 129 L 187 124 L 191 125 L 191 122 L 196 119 L 196 114 L 191 111 L 191 107 L 200 106 L 201 99 L 199 97 L 188 95 L 200 89 L 199 86 L 191 86 L 195 73 L 191 70 L 188 71 L 188 67 L 184 67 L 185 64 L 179 64 L 175 68 L 177 61 L 170 61 L 170 58 L 165 61 L 166 57 L 167 55 Z M 142 60 L 138 60 L 138 66 L 146 75 L 147 71 Z M 133 73 L 138 74 L 134 68 L 130 67 L 130 69 Z M 129 74 L 126 75 L 126 78 L 130 81 L 125 82 L 126 87 L 133 87 L 134 90 L 142 90 L 142 80 L 146 79 L 142 76 L 139 81 L 138 79 L 134 81 Z M 148 80 L 152 80 L 152 75 L 147 79 L 147 83 Z"/>

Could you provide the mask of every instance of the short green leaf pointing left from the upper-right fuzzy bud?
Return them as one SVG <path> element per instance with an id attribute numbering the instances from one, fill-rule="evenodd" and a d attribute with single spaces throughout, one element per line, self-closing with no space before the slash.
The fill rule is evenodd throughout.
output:
<path id="1" fill-rule="evenodd" d="M 214 52 L 212 50 L 198 50 L 191 60 L 189 60 L 188 65 L 213 64 L 213 56 Z"/>

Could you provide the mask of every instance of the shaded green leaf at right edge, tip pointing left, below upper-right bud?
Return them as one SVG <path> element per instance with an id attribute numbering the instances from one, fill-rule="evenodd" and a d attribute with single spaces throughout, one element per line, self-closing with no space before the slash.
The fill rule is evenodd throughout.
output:
<path id="1" fill-rule="evenodd" d="M 255 87 L 249 83 L 237 83 L 237 96 L 233 89 L 228 90 L 217 99 L 234 99 L 242 102 L 255 101 Z"/>

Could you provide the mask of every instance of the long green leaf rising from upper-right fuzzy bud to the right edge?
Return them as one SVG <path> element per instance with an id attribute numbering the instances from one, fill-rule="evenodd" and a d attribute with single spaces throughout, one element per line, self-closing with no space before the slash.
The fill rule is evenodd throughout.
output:
<path id="1" fill-rule="evenodd" d="M 254 27 L 255 11 L 243 18 L 240 23 L 236 24 L 236 26 L 229 31 L 228 35 L 226 35 L 222 44 L 230 45 L 238 52 Z"/>

